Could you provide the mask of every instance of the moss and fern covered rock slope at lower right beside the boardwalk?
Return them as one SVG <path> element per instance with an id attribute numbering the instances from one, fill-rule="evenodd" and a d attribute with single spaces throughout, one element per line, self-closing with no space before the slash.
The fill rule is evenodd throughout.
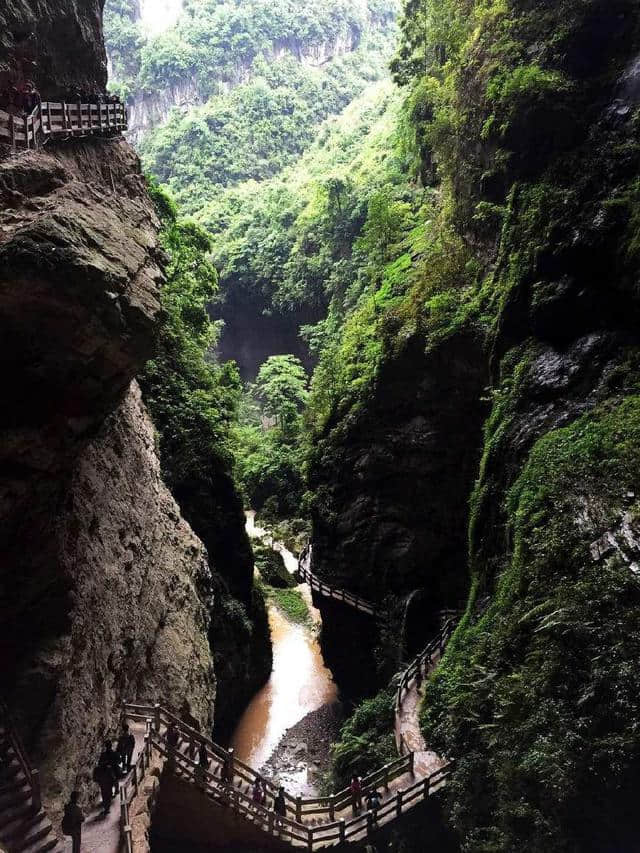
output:
<path id="1" fill-rule="evenodd" d="M 640 772 L 640 397 L 540 438 L 507 499 L 511 555 L 429 684 L 469 850 L 631 850 Z M 473 796 L 470 792 L 473 791 Z"/>

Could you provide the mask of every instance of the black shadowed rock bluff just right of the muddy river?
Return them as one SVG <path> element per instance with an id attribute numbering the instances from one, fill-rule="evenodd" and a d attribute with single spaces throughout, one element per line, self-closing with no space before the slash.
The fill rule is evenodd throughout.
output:
<path id="1" fill-rule="evenodd" d="M 402 602 L 422 590 L 422 636 L 412 645 L 437 627 L 436 611 L 466 594 L 467 496 L 480 456 L 487 381 L 482 345 L 471 331 L 429 352 L 415 336 L 382 366 L 365 411 L 329 429 L 313 456 L 314 571 L 373 599 L 381 611 L 388 597 L 399 601 L 399 624 Z M 347 664 L 339 649 L 352 647 L 348 617 L 332 614 L 323 630 L 340 671 Z M 360 630 L 354 625 L 356 636 Z M 392 644 L 399 653 L 402 636 Z M 360 681 L 366 669 L 359 661 L 353 676 Z"/>

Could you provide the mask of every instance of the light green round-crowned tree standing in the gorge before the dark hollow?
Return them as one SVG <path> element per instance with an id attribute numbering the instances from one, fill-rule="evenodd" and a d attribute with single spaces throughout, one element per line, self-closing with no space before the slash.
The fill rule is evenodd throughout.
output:
<path id="1" fill-rule="evenodd" d="M 264 414 L 276 418 L 285 433 L 294 431 L 309 392 L 307 374 L 294 355 L 272 355 L 262 365 L 255 394 Z"/>

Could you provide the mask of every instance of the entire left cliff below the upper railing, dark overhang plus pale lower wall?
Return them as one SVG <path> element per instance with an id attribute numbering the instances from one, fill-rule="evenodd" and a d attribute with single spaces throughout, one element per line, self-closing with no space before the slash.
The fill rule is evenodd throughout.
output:
<path id="1" fill-rule="evenodd" d="M 123 700 L 186 697 L 212 722 L 212 584 L 132 385 L 161 281 L 137 158 L 5 160 L 0 207 L 0 687 L 55 812 Z"/>

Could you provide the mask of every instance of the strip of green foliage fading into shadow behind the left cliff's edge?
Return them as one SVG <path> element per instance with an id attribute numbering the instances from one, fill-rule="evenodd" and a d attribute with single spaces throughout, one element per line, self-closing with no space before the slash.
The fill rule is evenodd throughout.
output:
<path id="1" fill-rule="evenodd" d="M 158 351 L 140 384 L 159 434 L 163 477 L 209 552 L 223 563 L 224 529 L 240 509 L 230 477 L 240 381 L 233 364 L 218 365 L 208 355 L 217 334 L 206 310 L 217 288 L 207 258 L 211 239 L 180 219 L 157 185 L 150 190 L 169 262 Z"/>

